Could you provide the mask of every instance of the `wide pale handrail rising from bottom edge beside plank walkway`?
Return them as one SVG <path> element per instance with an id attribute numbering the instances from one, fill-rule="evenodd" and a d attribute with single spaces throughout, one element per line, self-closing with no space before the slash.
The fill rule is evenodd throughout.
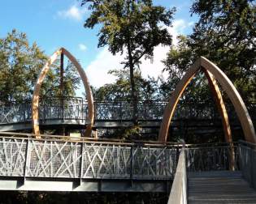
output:
<path id="1" fill-rule="evenodd" d="M 182 147 L 179 156 L 179 162 L 176 168 L 176 174 L 171 186 L 171 193 L 167 204 L 177 203 L 186 204 L 187 201 L 187 170 L 185 150 Z"/>

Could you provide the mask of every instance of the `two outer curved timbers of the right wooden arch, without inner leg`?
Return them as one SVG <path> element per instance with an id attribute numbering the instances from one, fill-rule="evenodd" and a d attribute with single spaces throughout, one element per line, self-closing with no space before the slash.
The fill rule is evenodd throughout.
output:
<path id="1" fill-rule="evenodd" d="M 199 59 L 197 59 L 197 61 L 193 64 L 193 66 L 190 67 L 187 73 L 184 74 L 183 78 L 180 80 L 180 83 L 178 83 L 178 85 L 176 86 L 175 91 L 172 92 L 171 98 L 163 113 L 163 121 L 159 130 L 158 141 L 167 141 L 167 134 L 169 126 L 171 124 L 171 117 L 173 116 L 173 113 L 175 111 L 176 104 L 180 100 L 180 96 L 184 92 L 184 89 L 188 86 L 191 79 L 193 79 L 196 71 L 199 70 L 201 67 L 207 70 L 210 74 L 212 74 L 215 79 L 218 80 L 221 87 L 223 87 L 223 90 L 226 91 L 226 93 L 228 94 L 228 97 L 230 98 L 232 104 L 235 107 L 236 114 L 241 121 L 241 126 L 245 134 L 245 140 L 248 142 L 256 143 L 254 125 L 251 121 L 251 118 L 249 117 L 249 113 L 247 111 L 247 108 L 245 107 L 245 103 L 242 100 L 238 91 L 236 90 L 236 87 L 234 87 L 232 82 L 228 79 L 227 75 L 224 74 L 218 66 L 215 66 L 214 63 L 207 60 L 206 57 L 200 57 Z"/>

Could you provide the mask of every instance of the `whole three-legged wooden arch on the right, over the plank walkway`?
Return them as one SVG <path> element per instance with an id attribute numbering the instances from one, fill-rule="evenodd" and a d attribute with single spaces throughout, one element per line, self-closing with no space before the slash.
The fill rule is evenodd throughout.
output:
<path id="1" fill-rule="evenodd" d="M 194 62 L 193 66 L 191 66 L 187 73 L 184 74 L 183 78 L 180 80 L 180 83 L 178 83 L 178 85 L 176 86 L 175 91 L 172 92 L 170 100 L 163 113 L 163 120 L 158 134 L 158 141 L 167 141 L 167 134 L 169 126 L 171 124 L 171 117 L 173 116 L 176 109 L 176 104 L 180 100 L 180 96 L 184 92 L 184 89 L 188 86 L 190 81 L 193 79 L 194 74 L 196 74 L 196 71 L 200 68 L 202 68 L 202 70 L 206 74 L 206 77 L 210 83 L 210 88 L 214 92 L 215 100 L 218 100 L 217 105 L 221 112 L 223 128 L 227 142 L 232 141 L 230 134 L 230 125 L 228 123 L 228 114 L 223 104 L 223 99 L 220 95 L 219 87 L 216 83 L 216 80 L 219 82 L 221 87 L 223 87 L 223 90 L 226 91 L 228 97 L 234 105 L 236 114 L 241 121 L 241 126 L 245 134 L 245 140 L 248 142 L 256 143 L 256 135 L 253 122 L 249 117 L 249 113 L 247 111 L 247 108 L 245 107 L 245 103 L 242 100 L 238 91 L 236 90 L 236 87 L 234 87 L 230 79 L 228 79 L 227 75 L 224 74 L 218 66 L 215 66 L 213 62 L 210 62 L 208 59 L 206 59 L 206 57 L 200 57 L 199 59 L 197 59 L 196 62 Z"/>

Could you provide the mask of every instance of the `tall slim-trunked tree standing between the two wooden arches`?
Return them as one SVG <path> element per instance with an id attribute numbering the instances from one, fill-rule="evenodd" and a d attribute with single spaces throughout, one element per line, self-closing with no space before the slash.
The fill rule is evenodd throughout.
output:
<path id="1" fill-rule="evenodd" d="M 154 47 L 171 45 L 171 26 L 174 8 L 153 6 L 151 0 L 82 0 L 82 6 L 89 3 L 91 15 L 85 21 L 85 28 L 101 24 L 98 33 L 98 47 L 108 45 L 112 54 L 124 53 L 124 68 L 129 68 L 133 122 L 137 124 L 137 86 L 134 70 L 139 68 L 141 58 L 153 59 Z"/>

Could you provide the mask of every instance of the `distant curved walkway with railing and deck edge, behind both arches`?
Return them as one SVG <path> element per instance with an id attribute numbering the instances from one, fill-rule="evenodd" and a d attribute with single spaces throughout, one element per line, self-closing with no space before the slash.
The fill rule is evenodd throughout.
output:
<path id="1" fill-rule="evenodd" d="M 128 101 L 94 101 L 95 129 L 113 129 L 132 126 L 132 103 Z M 139 101 L 138 121 L 144 128 L 159 128 L 167 101 Z M 232 104 L 226 105 L 231 125 L 240 128 Z M 10 102 L 0 106 L 0 131 L 32 130 L 31 101 Z M 249 114 L 256 122 L 256 104 L 249 104 Z M 84 128 L 89 124 L 88 102 L 80 97 L 50 98 L 39 103 L 41 128 L 56 128 L 60 125 Z M 221 127 L 220 116 L 215 105 L 206 103 L 178 104 L 171 119 L 171 127 Z"/>

